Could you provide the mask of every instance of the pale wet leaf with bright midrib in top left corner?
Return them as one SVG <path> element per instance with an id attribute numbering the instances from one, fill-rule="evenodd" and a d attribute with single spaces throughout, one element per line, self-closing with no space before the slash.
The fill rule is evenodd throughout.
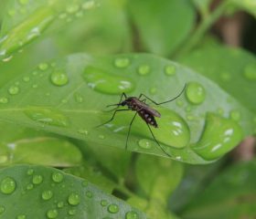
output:
<path id="1" fill-rule="evenodd" d="M 49 26 L 57 23 L 58 27 L 64 27 L 93 5 L 94 1 L 86 0 L 9 1 L 0 33 L 0 58 L 7 61 L 16 51 L 42 36 Z"/>

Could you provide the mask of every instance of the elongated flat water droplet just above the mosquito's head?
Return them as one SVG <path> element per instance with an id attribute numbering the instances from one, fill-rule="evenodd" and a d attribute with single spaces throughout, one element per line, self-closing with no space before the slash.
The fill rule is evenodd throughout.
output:
<path id="1" fill-rule="evenodd" d="M 130 79 L 112 75 L 99 68 L 86 68 L 83 78 L 91 89 L 102 93 L 120 94 L 131 92 L 134 89 L 133 82 Z"/>

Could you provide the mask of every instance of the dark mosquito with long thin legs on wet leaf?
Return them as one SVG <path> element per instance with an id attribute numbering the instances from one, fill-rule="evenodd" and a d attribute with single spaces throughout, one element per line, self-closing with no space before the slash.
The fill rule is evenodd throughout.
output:
<path id="1" fill-rule="evenodd" d="M 133 115 L 133 119 L 131 120 L 131 122 L 129 124 L 129 130 L 128 130 L 128 133 L 127 133 L 127 136 L 126 136 L 126 142 L 125 142 L 125 150 L 127 150 L 127 148 L 128 148 L 128 140 L 129 140 L 131 128 L 132 128 L 132 125 L 133 125 L 133 121 L 135 120 L 135 117 L 137 115 L 139 115 L 145 121 L 148 129 L 151 132 L 151 135 L 152 135 L 153 139 L 155 140 L 155 142 L 157 143 L 157 145 L 159 146 L 161 151 L 163 151 L 167 156 L 170 157 L 170 154 L 168 154 L 168 152 L 165 151 L 165 148 L 155 139 L 155 135 L 153 133 L 153 130 L 151 129 L 151 126 L 153 126 L 154 128 L 158 128 L 158 124 L 155 120 L 155 117 L 160 118 L 161 114 L 157 110 L 151 108 L 146 103 L 146 100 L 149 100 L 149 101 L 153 102 L 157 106 L 162 105 L 162 104 L 171 102 L 171 101 L 179 98 L 180 95 L 186 89 L 186 87 L 187 87 L 187 84 L 185 84 L 184 88 L 181 90 L 181 92 L 175 98 L 169 99 L 167 101 L 160 102 L 160 103 L 157 103 L 157 102 L 155 102 L 155 100 L 148 98 L 143 93 L 140 94 L 140 96 L 137 98 L 137 97 L 127 97 L 127 95 L 123 92 L 122 95 L 121 95 L 121 98 L 119 100 L 119 103 L 111 104 L 111 105 L 107 106 L 107 107 L 116 106 L 116 108 L 112 109 L 112 110 L 114 110 L 114 112 L 112 114 L 112 118 L 110 120 L 107 120 L 106 122 L 102 123 L 101 125 L 97 126 L 97 128 L 111 122 L 114 119 L 115 114 L 117 112 L 128 111 L 128 110 L 135 111 L 135 114 Z M 123 100 L 123 97 L 124 97 L 124 100 Z M 122 107 L 127 106 L 128 109 L 119 109 L 119 107 L 121 107 L 121 106 Z M 110 110 L 110 111 L 112 111 L 112 110 Z"/>

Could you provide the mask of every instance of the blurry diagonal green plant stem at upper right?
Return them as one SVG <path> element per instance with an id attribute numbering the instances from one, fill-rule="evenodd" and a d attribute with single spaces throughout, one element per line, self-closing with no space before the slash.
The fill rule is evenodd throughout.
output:
<path id="1" fill-rule="evenodd" d="M 184 56 L 192 48 L 197 46 L 202 37 L 208 31 L 209 27 L 212 26 L 219 19 L 219 16 L 223 15 L 224 11 L 227 8 L 227 5 L 229 5 L 229 1 L 223 0 L 210 15 L 208 15 L 207 17 L 203 17 L 203 20 L 197 27 L 197 30 L 194 33 L 194 35 L 187 40 L 183 47 L 181 47 L 181 49 L 177 52 L 176 57 Z"/>

